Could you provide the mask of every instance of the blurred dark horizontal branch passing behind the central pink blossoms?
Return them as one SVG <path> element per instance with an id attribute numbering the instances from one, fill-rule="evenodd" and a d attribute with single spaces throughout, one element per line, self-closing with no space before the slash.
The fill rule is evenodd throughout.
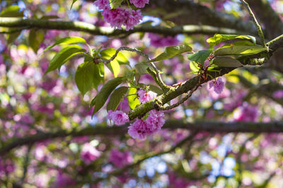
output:
<path id="1" fill-rule="evenodd" d="M 32 136 L 16 138 L 13 141 L 6 143 L 0 148 L 0 155 L 5 155 L 13 148 L 20 146 L 45 141 L 48 139 L 64 138 L 66 136 L 120 136 L 127 133 L 127 126 L 120 127 L 105 127 L 103 124 L 97 124 L 96 127 L 88 127 L 81 130 L 59 130 L 56 132 L 42 132 Z M 283 122 L 195 122 L 187 123 L 183 120 L 168 120 L 163 129 L 187 129 L 191 131 L 207 131 L 211 133 L 231 133 L 231 132 L 246 132 L 246 133 L 279 133 L 283 132 Z"/>

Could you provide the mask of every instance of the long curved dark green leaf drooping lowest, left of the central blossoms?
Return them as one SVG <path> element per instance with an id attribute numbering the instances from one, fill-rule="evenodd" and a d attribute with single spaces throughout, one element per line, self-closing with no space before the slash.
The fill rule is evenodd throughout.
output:
<path id="1" fill-rule="evenodd" d="M 98 112 L 98 110 L 103 107 L 112 91 L 115 90 L 115 88 L 119 86 L 123 81 L 125 81 L 124 77 L 117 77 L 103 85 L 99 93 L 96 95 L 96 105 L 94 107 L 93 114 Z"/>

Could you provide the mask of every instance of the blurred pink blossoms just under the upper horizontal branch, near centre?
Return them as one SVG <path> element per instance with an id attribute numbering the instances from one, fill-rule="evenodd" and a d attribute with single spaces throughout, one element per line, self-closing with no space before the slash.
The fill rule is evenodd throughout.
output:
<path id="1" fill-rule="evenodd" d="M 177 36 L 162 37 L 161 35 L 154 34 L 154 33 L 149 33 L 148 36 L 151 41 L 151 45 L 154 47 L 175 46 L 175 45 L 178 45 L 179 43 Z"/>

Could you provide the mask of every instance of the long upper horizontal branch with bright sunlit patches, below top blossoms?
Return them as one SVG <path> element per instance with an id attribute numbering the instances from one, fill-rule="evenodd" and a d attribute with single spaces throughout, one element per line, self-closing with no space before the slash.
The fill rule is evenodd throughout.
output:
<path id="1" fill-rule="evenodd" d="M 173 28 L 166 28 L 162 26 L 151 25 L 137 25 L 133 30 L 126 31 L 115 30 L 110 27 L 96 27 L 91 23 L 81 21 L 62 21 L 62 20 L 41 20 L 41 19 L 23 19 L 23 18 L 0 18 L 0 27 L 19 28 L 23 29 L 45 29 L 45 30 L 74 30 L 89 33 L 91 35 L 106 35 L 115 36 L 122 34 L 131 34 L 137 32 L 160 33 L 163 35 L 177 35 L 177 34 L 206 34 L 214 35 L 215 33 L 222 34 L 244 34 L 246 31 L 238 31 L 229 28 L 217 28 L 209 25 L 183 25 Z M 246 33 L 247 34 L 247 33 Z M 250 33 L 248 34 L 255 34 Z"/>

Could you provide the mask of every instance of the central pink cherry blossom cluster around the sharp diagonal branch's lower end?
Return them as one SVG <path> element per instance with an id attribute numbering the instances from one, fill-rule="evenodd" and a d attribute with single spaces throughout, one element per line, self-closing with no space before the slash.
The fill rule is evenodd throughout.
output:
<path id="1" fill-rule="evenodd" d="M 139 90 L 139 102 L 148 102 L 156 98 L 157 94 L 152 91 Z M 129 117 L 125 112 L 116 110 L 108 112 L 108 118 L 111 119 L 115 124 L 122 125 L 129 122 Z M 145 139 L 146 136 L 156 133 L 161 130 L 165 123 L 164 113 L 157 110 L 151 110 L 144 119 L 137 119 L 134 123 L 129 126 L 128 134 L 133 139 Z"/>

